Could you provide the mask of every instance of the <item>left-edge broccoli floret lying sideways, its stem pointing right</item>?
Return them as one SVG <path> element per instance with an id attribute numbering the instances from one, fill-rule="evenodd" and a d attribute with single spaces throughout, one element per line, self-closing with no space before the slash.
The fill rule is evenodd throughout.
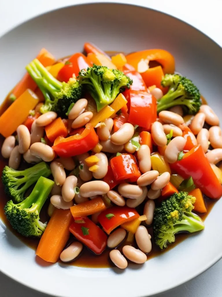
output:
<path id="1" fill-rule="evenodd" d="M 15 170 L 5 166 L 2 171 L 2 182 L 6 194 L 16 203 L 25 199 L 26 190 L 34 184 L 40 176 L 48 177 L 51 174 L 45 162 L 34 165 L 25 170 Z"/>

